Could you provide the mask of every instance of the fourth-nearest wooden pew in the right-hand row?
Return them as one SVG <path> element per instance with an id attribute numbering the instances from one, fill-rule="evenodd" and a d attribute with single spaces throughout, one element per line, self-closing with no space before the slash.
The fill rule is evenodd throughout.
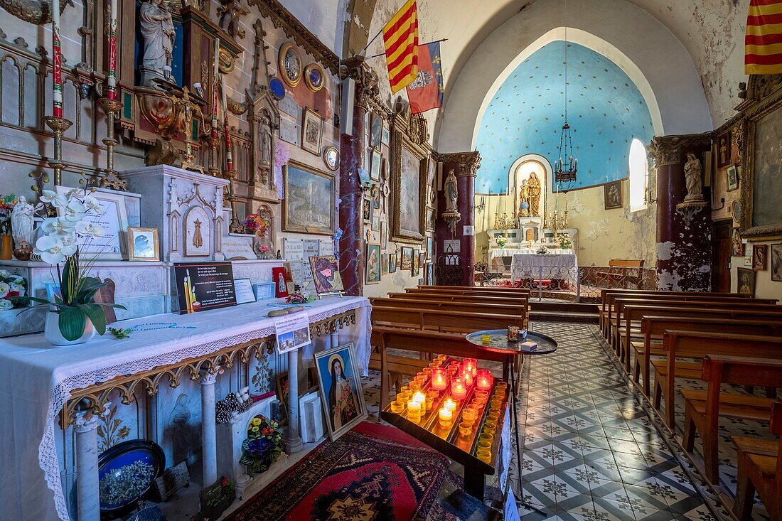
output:
<path id="1" fill-rule="evenodd" d="M 649 366 L 651 357 L 665 356 L 662 349 L 663 334 L 672 329 L 677 331 L 703 331 L 703 332 L 737 332 L 743 335 L 772 336 L 782 335 L 782 316 L 769 317 L 758 320 L 754 315 L 748 318 L 723 318 L 715 316 L 683 316 L 676 311 L 672 316 L 665 316 L 664 309 L 654 311 L 654 316 L 643 314 L 640 319 L 640 332 L 643 341 L 631 341 L 635 365 L 633 376 L 636 383 L 643 380 L 643 390 L 647 397 L 651 396 Z"/>

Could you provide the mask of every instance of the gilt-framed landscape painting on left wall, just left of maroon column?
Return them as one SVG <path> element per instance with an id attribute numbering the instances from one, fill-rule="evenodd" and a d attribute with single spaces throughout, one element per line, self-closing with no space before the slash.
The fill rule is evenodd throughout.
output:
<path id="1" fill-rule="evenodd" d="M 282 168 L 282 182 L 282 231 L 334 235 L 334 175 L 291 160 Z"/>

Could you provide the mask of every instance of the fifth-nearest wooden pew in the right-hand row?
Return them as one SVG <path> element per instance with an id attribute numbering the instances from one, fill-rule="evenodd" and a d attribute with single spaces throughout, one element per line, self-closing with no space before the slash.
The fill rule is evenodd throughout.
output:
<path id="1" fill-rule="evenodd" d="M 632 336 L 638 336 L 640 331 L 633 329 L 640 318 L 628 320 L 624 312 L 625 307 L 629 306 L 657 306 L 657 307 L 692 307 L 701 309 L 735 309 L 735 310 L 757 310 L 757 311 L 776 311 L 782 313 L 782 306 L 778 306 L 776 301 L 771 300 L 745 300 L 742 298 L 723 296 L 716 299 L 694 299 L 694 300 L 670 300 L 670 299 L 617 299 L 615 300 L 616 317 L 612 320 L 612 347 L 614 352 L 626 362 L 626 370 L 630 372 L 629 344 Z M 633 335 L 635 333 L 635 335 Z M 622 356 L 625 353 L 626 356 Z"/>

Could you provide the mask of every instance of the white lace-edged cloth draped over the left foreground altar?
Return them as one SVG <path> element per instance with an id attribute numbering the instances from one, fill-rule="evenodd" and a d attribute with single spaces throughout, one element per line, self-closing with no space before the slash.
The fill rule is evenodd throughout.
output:
<path id="1" fill-rule="evenodd" d="M 55 429 L 59 429 L 57 415 L 71 390 L 270 336 L 274 322 L 266 317 L 272 309 L 269 304 L 282 302 L 134 318 L 119 324 L 149 329 L 125 340 L 106 333 L 89 343 L 56 347 L 40 334 L 0 339 L 0 519 L 69 519 Z M 345 330 L 340 341 L 353 342 L 365 373 L 371 349 L 369 301 L 363 296 L 332 296 L 307 304 L 310 322 L 353 309 L 356 327 Z"/>

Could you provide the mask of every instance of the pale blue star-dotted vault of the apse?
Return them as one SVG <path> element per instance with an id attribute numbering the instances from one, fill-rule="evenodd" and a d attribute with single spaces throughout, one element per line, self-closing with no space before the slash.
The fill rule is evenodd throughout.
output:
<path id="1" fill-rule="evenodd" d="M 649 108 L 619 66 L 583 45 L 568 45 L 568 119 L 579 160 L 570 188 L 626 178 L 633 138 L 647 144 L 655 135 Z M 565 41 L 552 41 L 500 85 L 479 124 L 476 192 L 506 192 L 519 156 L 536 153 L 554 163 L 565 118 L 564 82 Z"/>

